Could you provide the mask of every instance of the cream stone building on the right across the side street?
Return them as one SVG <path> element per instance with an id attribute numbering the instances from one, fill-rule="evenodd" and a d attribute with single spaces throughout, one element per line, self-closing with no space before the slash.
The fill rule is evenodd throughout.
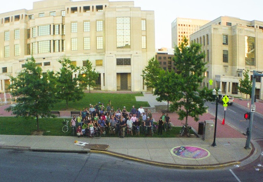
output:
<path id="1" fill-rule="evenodd" d="M 263 71 L 263 22 L 234 17 L 219 17 L 190 36 L 202 44 L 207 63 L 206 78 L 201 86 L 221 88 L 223 93 L 243 96 L 237 86 L 244 70 Z M 251 73 L 252 74 L 252 73 Z M 256 79 L 256 98 L 263 99 L 262 78 Z"/>

